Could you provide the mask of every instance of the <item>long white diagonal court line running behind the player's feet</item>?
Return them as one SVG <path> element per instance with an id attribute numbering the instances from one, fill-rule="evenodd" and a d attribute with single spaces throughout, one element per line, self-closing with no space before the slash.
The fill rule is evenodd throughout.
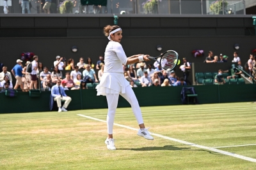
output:
<path id="1" fill-rule="evenodd" d="M 81 114 L 78 114 L 77 116 L 80 116 L 80 117 L 85 117 L 85 118 L 90 118 L 92 120 L 97 120 L 99 122 L 104 122 L 106 123 L 107 121 L 106 120 L 101 120 L 99 118 L 93 118 L 93 117 L 88 117 L 86 115 L 81 115 Z M 134 127 L 129 127 L 127 125 L 120 125 L 120 124 L 114 124 L 114 125 L 117 125 L 119 127 L 124 127 L 126 129 L 131 129 L 131 130 L 134 130 L 134 131 L 138 131 L 138 129 L 134 128 Z M 176 141 L 178 143 L 183 143 L 185 145 L 190 145 L 190 146 L 195 146 L 196 148 L 202 148 L 202 149 L 205 149 L 205 150 L 211 150 L 212 152 L 217 152 L 217 153 L 221 153 L 223 155 L 228 155 L 228 156 L 231 156 L 231 157 L 236 157 L 236 158 L 239 158 L 239 159 L 243 159 L 243 160 L 248 160 L 250 162 L 256 162 L 256 159 L 253 159 L 253 158 L 250 158 L 250 157 L 244 157 L 243 155 L 238 155 L 236 153 L 231 153 L 231 152 L 226 152 L 226 151 L 223 151 L 223 150 L 218 150 L 216 148 L 210 148 L 210 147 L 207 147 L 207 146 L 202 146 L 202 145 L 196 145 L 195 143 L 190 143 L 190 142 L 187 142 L 187 141 L 182 141 L 180 139 L 175 139 L 175 138 L 170 138 L 168 136 L 163 136 L 161 134 L 155 134 L 155 133 L 152 133 L 150 132 L 150 134 L 154 135 L 154 136 L 157 136 L 159 138 L 164 138 L 164 139 L 168 139 L 170 141 Z"/>

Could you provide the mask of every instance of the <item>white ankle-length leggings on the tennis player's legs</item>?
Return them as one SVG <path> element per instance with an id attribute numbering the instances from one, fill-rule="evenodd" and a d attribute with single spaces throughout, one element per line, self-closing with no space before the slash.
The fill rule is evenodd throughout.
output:
<path id="1" fill-rule="evenodd" d="M 133 114 L 136 117 L 138 124 L 139 125 L 143 124 L 143 118 L 141 115 L 140 106 L 131 86 L 125 87 L 125 94 L 120 93 L 120 95 L 124 97 L 131 104 Z M 108 116 L 107 116 L 108 134 L 113 134 L 114 118 L 115 118 L 119 94 L 106 94 L 106 97 L 108 101 Z"/>

